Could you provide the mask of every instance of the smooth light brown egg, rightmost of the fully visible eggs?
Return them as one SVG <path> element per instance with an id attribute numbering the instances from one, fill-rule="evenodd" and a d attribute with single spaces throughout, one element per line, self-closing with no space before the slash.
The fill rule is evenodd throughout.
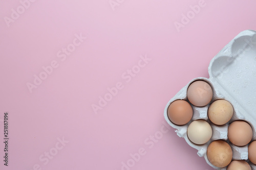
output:
<path id="1" fill-rule="evenodd" d="M 243 120 L 234 121 L 228 127 L 227 137 L 230 142 L 242 147 L 252 139 L 251 126 Z"/>

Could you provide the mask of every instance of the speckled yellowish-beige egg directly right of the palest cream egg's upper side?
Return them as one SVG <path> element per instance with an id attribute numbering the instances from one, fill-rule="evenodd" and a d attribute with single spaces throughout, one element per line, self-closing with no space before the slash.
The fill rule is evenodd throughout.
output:
<path id="1" fill-rule="evenodd" d="M 226 100 L 217 100 L 208 109 L 210 121 L 216 125 L 224 125 L 233 116 L 233 107 Z"/>

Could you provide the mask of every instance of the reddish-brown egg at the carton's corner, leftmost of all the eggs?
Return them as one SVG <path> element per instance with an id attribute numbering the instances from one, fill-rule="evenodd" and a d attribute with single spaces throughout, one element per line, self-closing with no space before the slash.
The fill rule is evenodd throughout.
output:
<path id="1" fill-rule="evenodd" d="M 187 124 L 193 116 L 191 105 L 184 100 L 177 100 L 171 103 L 167 112 L 170 121 L 176 125 Z"/>

